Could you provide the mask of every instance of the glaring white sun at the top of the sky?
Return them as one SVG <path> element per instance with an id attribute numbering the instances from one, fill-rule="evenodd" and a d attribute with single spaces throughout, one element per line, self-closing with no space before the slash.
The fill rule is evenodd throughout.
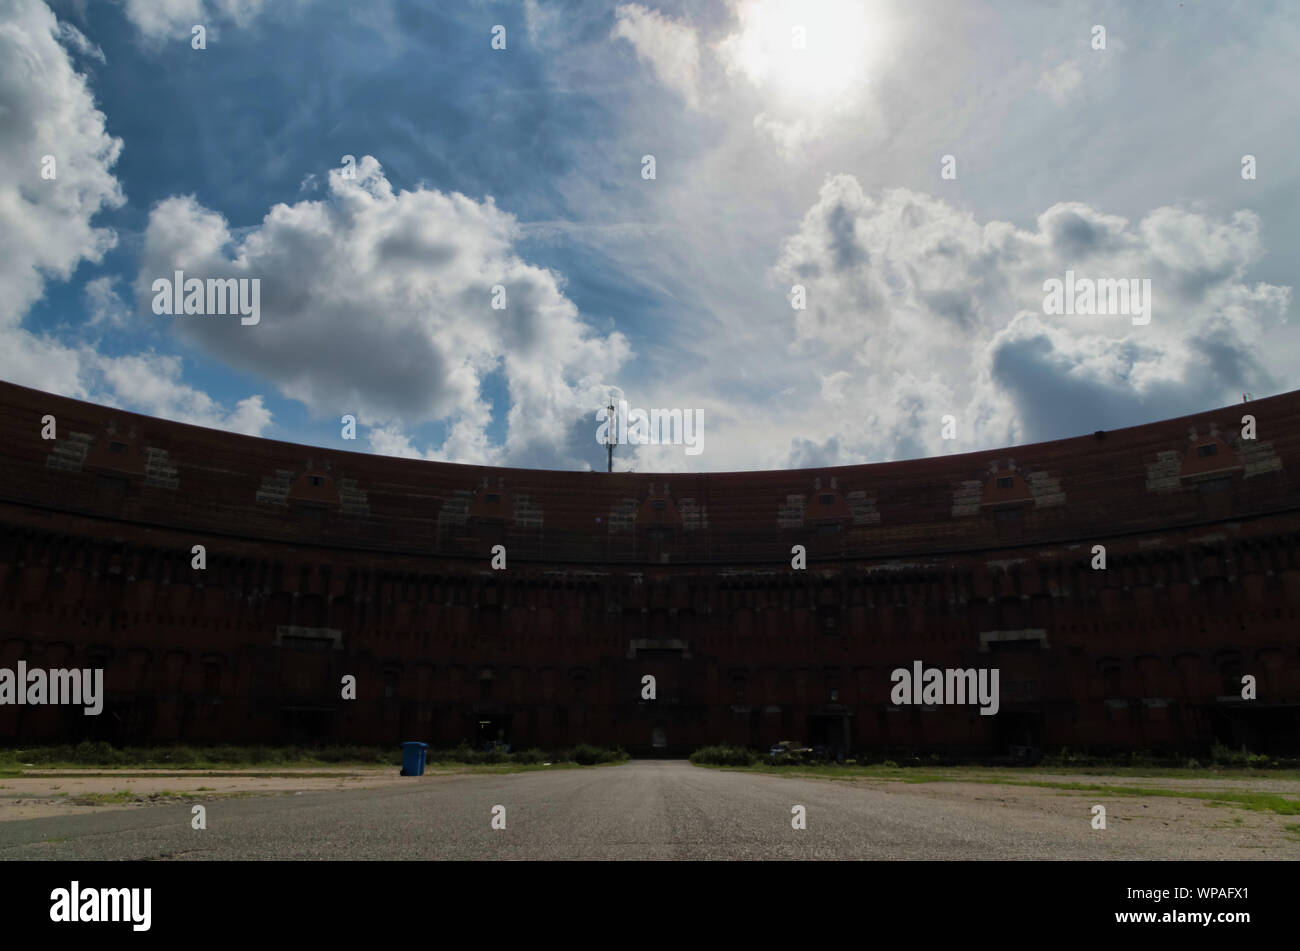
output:
<path id="1" fill-rule="evenodd" d="M 819 108 L 870 82 L 883 30 L 866 0 L 742 0 L 736 13 L 719 52 L 767 95 Z"/>

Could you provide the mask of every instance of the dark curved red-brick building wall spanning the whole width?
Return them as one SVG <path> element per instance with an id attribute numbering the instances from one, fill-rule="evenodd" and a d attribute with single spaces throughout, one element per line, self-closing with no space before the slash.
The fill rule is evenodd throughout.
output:
<path id="1" fill-rule="evenodd" d="M 385 459 L 12 385 L 0 434 L 0 668 L 100 666 L 108 694 L 98 717 L 0 707 L 5 742 L 1300 735 L 1300 392 L 996 452 L 714 474 Z M 996 668 L 997 715 L 892 704 L 914 661 Z"/>

